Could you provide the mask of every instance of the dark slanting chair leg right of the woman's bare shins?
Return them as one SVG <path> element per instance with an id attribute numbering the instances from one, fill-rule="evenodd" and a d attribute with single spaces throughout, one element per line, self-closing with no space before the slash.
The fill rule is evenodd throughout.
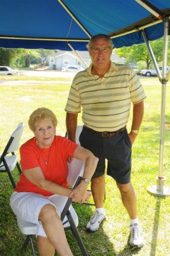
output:
<path id="1" fill-rule="evenodd" d="M 77 239 L 77 243 L 79 244 L 82 255 L 88 256 L 88 253 L 86 252 L 86 248 L 84 247 L 84 244 L 82 243 L 82 239 L 81 239 L 79 232 L 77 230 L 77 227 L 75 226 L 75 223 L 73 221 L 72 214 L 70 214 L 69 210 L 68 210 L 68 212 L 66 212 L 66 216 L 68 218 L 68 221 L 70 222 L 70 227 L 71 227 L 72 233 L 75 236 L 75 238 Z"/>

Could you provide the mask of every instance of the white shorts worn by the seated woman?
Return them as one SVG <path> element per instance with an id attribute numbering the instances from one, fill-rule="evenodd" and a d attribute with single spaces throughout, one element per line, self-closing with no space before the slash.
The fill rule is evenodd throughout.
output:
<path id="1" fill-rule="evenodd" d="M 36 236 L 47 237 L 43 230 L 42 222 L 38 220 L 38 216 L 42 207 L 46 204 L 51 204 L 56 208 L 56 212 L 61 216 L 61 212 L 65 207 L 68 197 L 61 195 L 43 196 L 31 192 L 13 192 L 10 198 L 10 206 L 15 215 L 23 221 L 37 224 Z M 70 206 L 75 225 L 78 225 L 78 217 L 72 205 Z M 63 220 L 65 222 L 67 218 Z"/>

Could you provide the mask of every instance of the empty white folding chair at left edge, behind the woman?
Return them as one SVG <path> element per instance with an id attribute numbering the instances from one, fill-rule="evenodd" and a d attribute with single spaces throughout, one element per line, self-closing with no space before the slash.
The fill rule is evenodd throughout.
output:
<path id="1" fill-rule="evenodd" d="M 18 162 L 18 156 L 15 154 L 15 151 L 19 149 L 20 147 L 20 138 L 22 136 L 22 132 L 24 130 L 24 123 L 20 123 L 15 131 L 13 131 L 10 140 L 8 141 L 6 147 L 4 148 L 4 152 L 0 157 L 0 173 L 1 172 L 7 172 L 8 176 L 12 182 L 13 188 L 15 188 L 15 181 L 12 177 L 12 171 L 17 165 L 17 168 L 19 170 L 19 173 L 21 173 L 20 165 Z M 12 155 L 8 155 L 8 154 Z"/>

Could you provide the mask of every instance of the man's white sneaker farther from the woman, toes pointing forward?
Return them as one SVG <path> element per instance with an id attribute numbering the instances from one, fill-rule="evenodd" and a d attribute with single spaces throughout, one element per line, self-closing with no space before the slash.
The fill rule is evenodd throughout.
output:
<path id="1" fill-rule="evenodd" d="M 130 225 L 130 246 L 141 248 L 143 246 L 143 237 L 141 237 L 141 228 L 140 225 L 135 223 Z"/>

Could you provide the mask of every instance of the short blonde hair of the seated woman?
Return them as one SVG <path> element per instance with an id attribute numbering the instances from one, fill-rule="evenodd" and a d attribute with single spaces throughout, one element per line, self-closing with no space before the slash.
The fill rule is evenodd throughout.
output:
<path id="1" fill-rule="evenodd" d="M 54 127 L 57 126 L 58 120 L 56 115 L 48 108 L 38 108 L 29 116 L 28 125 L 31 131 L 35 131 L 35 122 L 43 119 L 50 119 Z"/>

